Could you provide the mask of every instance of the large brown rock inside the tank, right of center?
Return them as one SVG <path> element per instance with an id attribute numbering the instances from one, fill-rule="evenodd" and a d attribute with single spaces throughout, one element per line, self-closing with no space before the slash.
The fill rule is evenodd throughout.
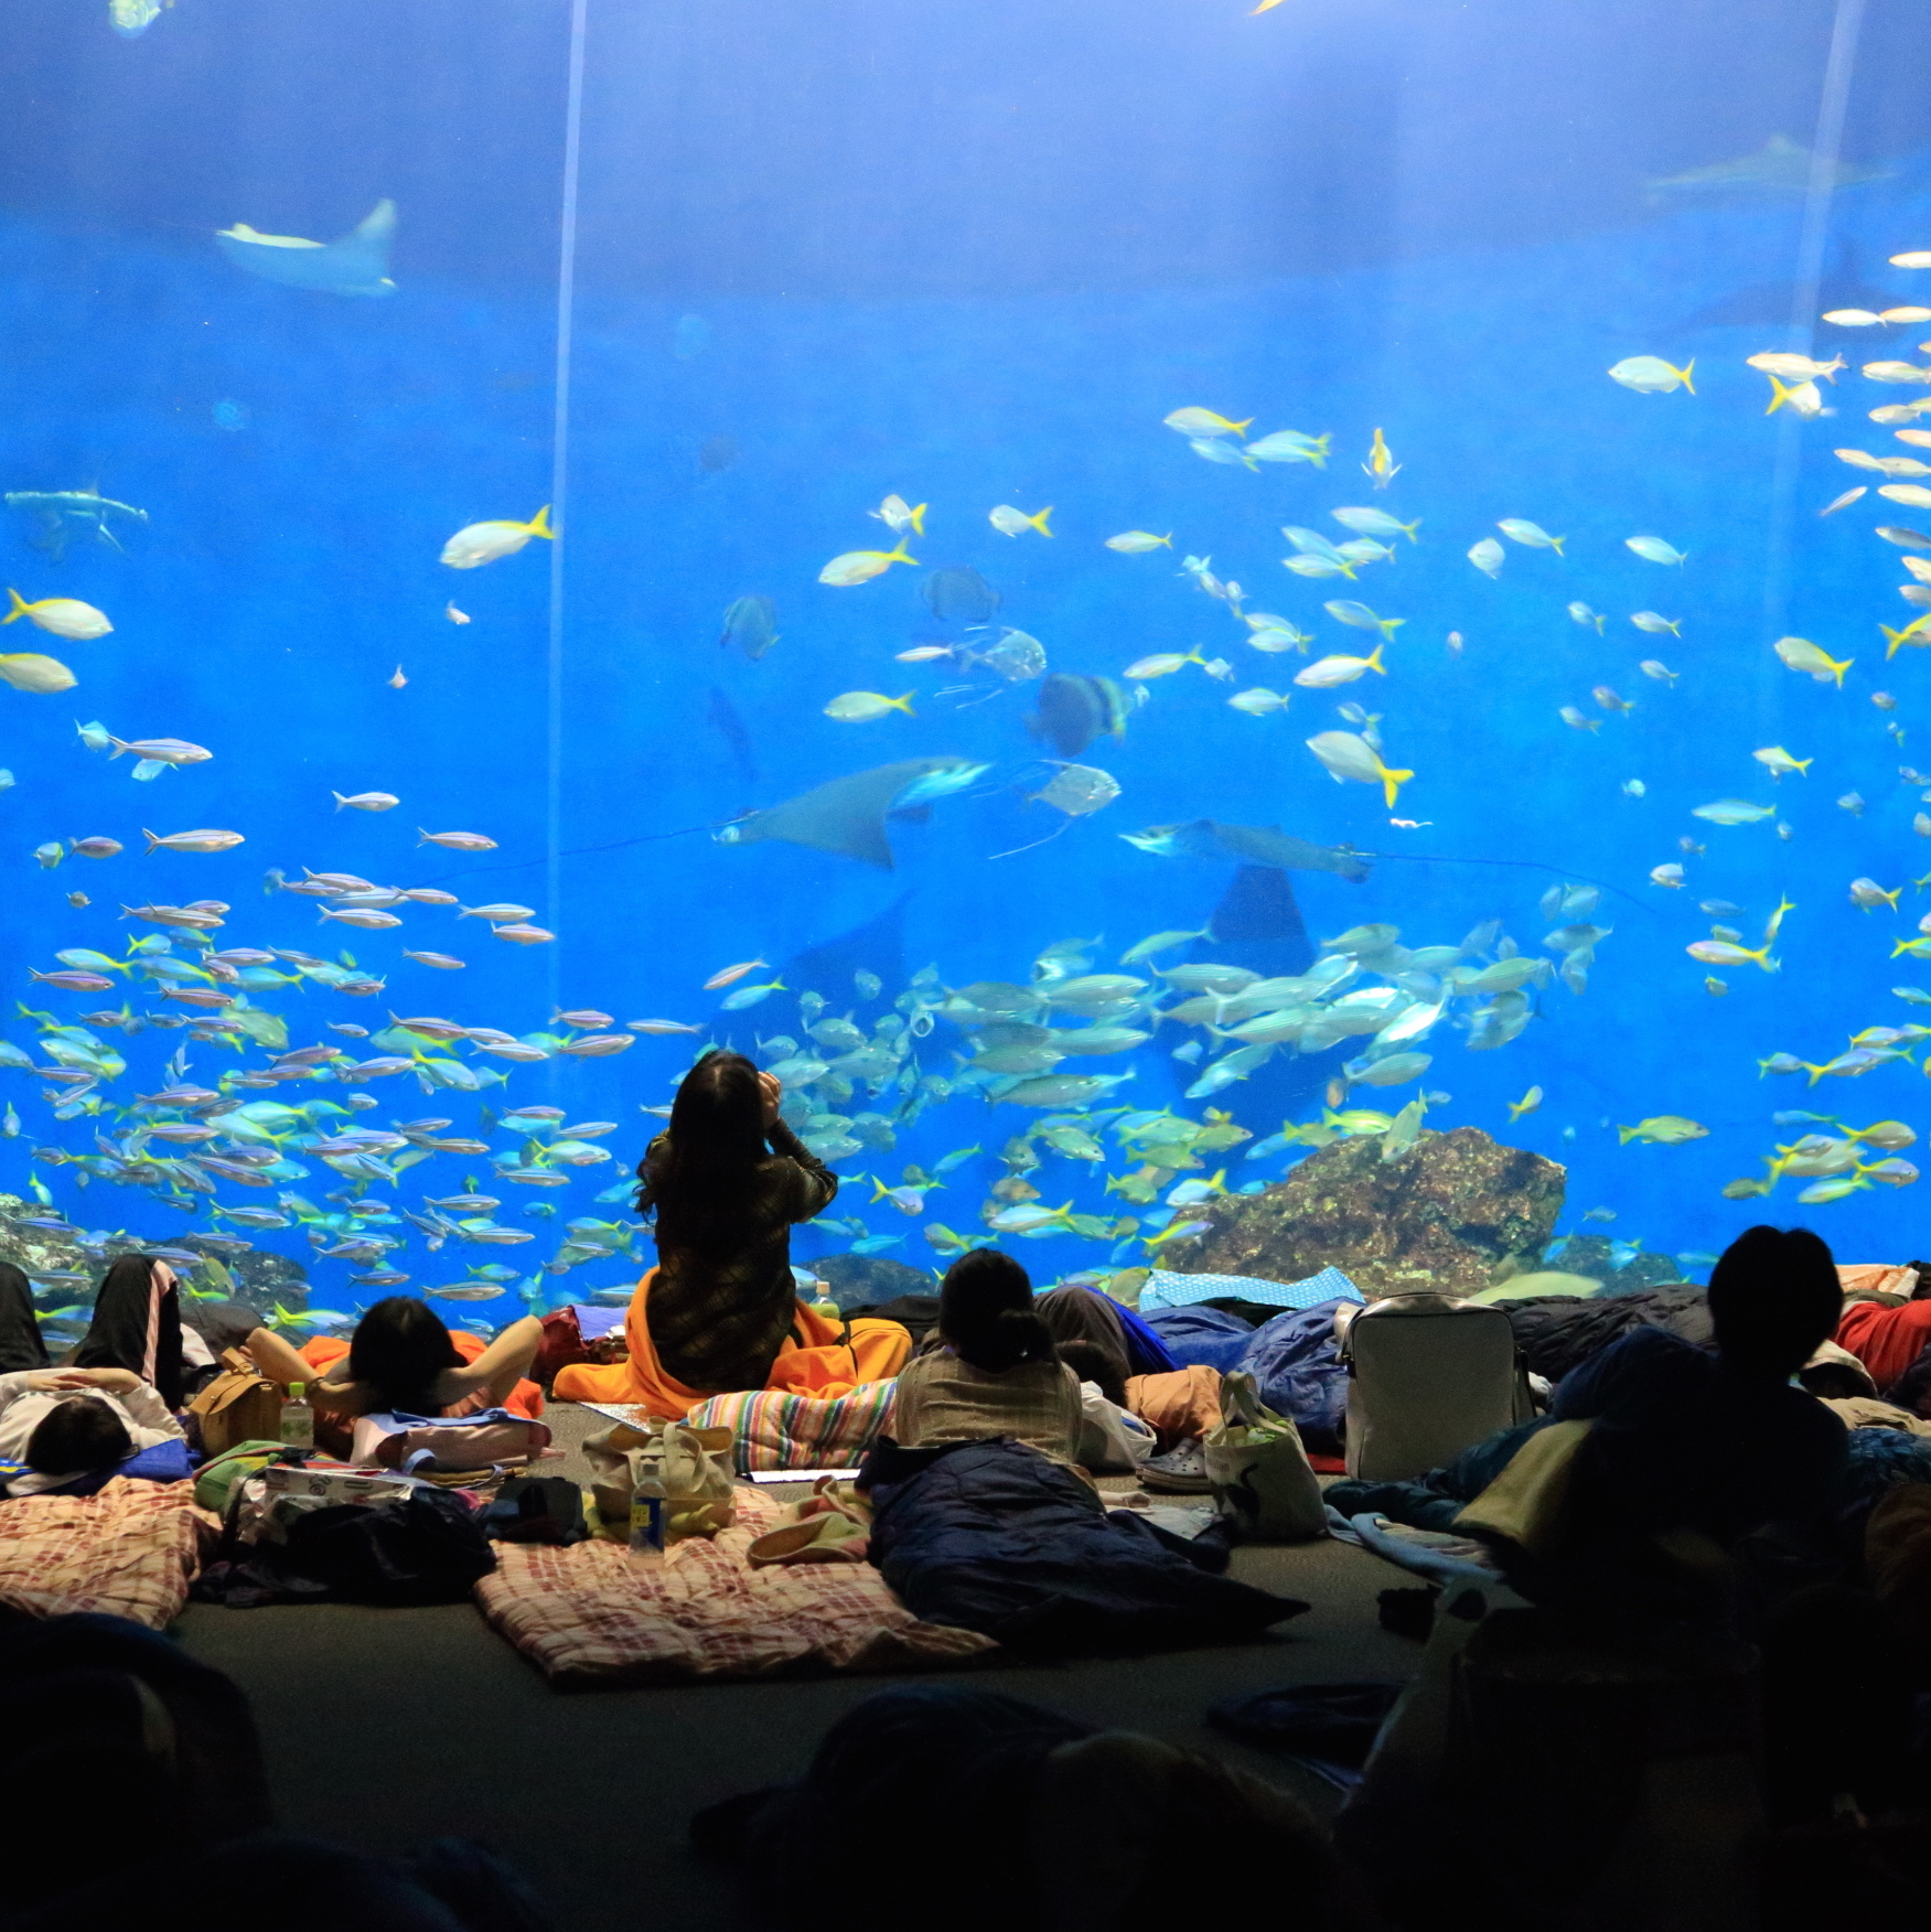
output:
<path id="1" fill-rule="evenodd" d="M 1189 1275 L 1301 1281 L 1334 1265 L 1363 1294 L 1473 1294 L 1542 1265 L 1568 1171 L 1479 1126 L 1421 1134 L 1384 1161 L 1380 1136 L 1338 1140 L 1260 1194 L 1227 1194 L 1164 1248 Z"/>

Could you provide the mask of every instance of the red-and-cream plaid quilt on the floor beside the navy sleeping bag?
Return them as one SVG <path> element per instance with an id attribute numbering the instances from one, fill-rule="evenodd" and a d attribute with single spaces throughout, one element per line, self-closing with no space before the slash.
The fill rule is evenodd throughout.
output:
<path id="1" fill-rule="evenodd" d="M 476 1596 L 489 1623 L 568 1690 L 945 1669 L 997 1650 L 974 1631 L 920 1623 L 870 1563 L 754 1571 L 744 1551 L 785 1505 L 738 1484 L 736 1513 L 715 1540 L 690 1538 L 651 1567 L 599 1540 L 499 1544 L 499 1567 Z"/>

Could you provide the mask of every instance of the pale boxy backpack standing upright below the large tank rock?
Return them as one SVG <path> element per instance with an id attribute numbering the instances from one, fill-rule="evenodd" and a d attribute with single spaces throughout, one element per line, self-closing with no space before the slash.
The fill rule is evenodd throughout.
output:
<path id="1" fill-rule="evenodd" d="M 1500 1308 L 1448 1294 L 1370 1302 L 1341 1335 L 1347 1474 L 1407 1482 L 1535 1414 Z"/>

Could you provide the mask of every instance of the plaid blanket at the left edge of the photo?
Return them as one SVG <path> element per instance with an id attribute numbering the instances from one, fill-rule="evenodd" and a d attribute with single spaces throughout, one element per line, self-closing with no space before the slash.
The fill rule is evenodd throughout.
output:
<path id="1" fill-rule="evenodd" d="M 114 1476 L 93 1495 L 0 1503 L 0 1604 L 58 1617 L 102 1609 L 151 1631 L 170 1625 L 213 1548 L 218 1519 L 191 1482 Z"/>

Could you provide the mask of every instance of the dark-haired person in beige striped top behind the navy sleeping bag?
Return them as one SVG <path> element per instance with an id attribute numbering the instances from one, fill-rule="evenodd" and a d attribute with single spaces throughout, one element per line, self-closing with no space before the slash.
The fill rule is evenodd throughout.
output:
<path id="1" fill-rule="evenodd" d="M 901 1449 L 1011 1435 L 1053 1463 L 1079 1461 L 1079 1376 L 1059 1360 L 1019 1262 L 997 1248 L 953 1262 L 939 1287 L 939 1343 L 899 1376 L 891 1437 Z"/>

